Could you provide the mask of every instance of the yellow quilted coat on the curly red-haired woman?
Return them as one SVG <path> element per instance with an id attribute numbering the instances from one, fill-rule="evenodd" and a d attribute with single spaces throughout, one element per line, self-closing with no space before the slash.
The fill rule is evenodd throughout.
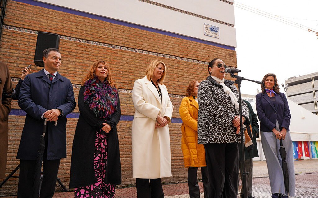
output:
<path id="1" fill-rule="evenodd" d="M 184 167 L 203 167 L 205 163 L 205 150 L 203 144 L 198 144 L 197 117 L 199 105 L 192 96 L 182 99 L 179 113 L 183 121 L 182 131 L 182 153 Z"/>

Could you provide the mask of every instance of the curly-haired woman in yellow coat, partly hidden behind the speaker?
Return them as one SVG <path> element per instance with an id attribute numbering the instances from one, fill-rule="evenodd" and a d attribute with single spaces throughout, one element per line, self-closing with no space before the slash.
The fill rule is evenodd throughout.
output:
<path id="1" fill-rule="evenodd" d="M 205 163 L 205 150 L 203 144 L 198 144 L 197 116 L 199 105 L 197 92 L 199 82 L 192 81 L 187 87 L 186 96 L 182 99 L 179 112 L 182 119 L 182 152 L 184 167 L 188 168 L 188 186 L 190 198 L 199 198 L 200 189 L 197 183 L 197 168 L 201 167 L 204 187 L 204 198 L 207 198 L 208 169 Z"/>

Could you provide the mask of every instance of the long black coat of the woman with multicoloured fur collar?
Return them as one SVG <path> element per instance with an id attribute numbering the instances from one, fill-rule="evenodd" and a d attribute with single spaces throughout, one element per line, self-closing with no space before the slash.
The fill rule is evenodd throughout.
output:
<path id="1" fill-rule="evenodd" d="M 96 131 L 108 123 L 112 130 L 108 134 L 108 154 L 106 177 L 104 183 L 121 184 L 121 162 L 119 141 L 116 125 L 121 117 L 121 108 L 118 96 L 117 110 L 109 120 L 97 118 L 93 110 L 84 102 L 84 86 L 79 90 L 78 106 L 79 119 L 77 122 L 71 160 L 70 188 L 88 186 L 96 183 L 94 170 L 94 147 Z"/>

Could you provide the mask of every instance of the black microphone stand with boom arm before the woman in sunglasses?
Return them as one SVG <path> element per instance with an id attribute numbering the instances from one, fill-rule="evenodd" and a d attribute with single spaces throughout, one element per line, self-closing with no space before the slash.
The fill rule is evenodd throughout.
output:
<path id="1" fill-rule="evenodd" d="M 240 150 L 241 150 L 241 156 L 242 156 L 242 164 L 243 164 L 243 172 L 242 172 L 242 185 L 243 185 L 243 189 L 244 189 L 244 198 L 247 198 L 247 185 L 246 185 L 246 176 L 249 174 L 249 172 L 246 172 L 245 169 L 245 151 L 244 151 L 244 128 L 243 128 L 243 120 L 242 120 L 242 99 L 241 99 L 241 82 L 242 80 L 248 80 L 251 82 L 255 82 L 258 84 L 263 84 L 263 82 L 257 81 L 257 80 L 250 80 L 238 75 L 235 75 L 232 72 L 229 72 L 231 74 L 232 78 L 236 78 L 235 83 L 238 84 L 239 87 L 239 117 L 240 117 L 240 133 L 241 133 L 241 145 L 240 145 Z"/>

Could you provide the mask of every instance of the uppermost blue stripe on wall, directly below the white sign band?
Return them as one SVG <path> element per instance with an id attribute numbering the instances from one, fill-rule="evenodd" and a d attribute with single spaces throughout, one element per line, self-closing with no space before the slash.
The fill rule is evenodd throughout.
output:
<path id="1" fill-rule="evenodd" d="M 61 11 L 61 12 L 66 12 L 66 13 L 74 14 L 74 15 L 78 15 L 78 16 L 84 16 L 84 17 L 88 17 L 88 18 L 92 18 L 92 19 L 97 19 L 97 20 L 100 20 L 100 21 L 110 22 L 110 23 L 114 23 L 114 24 L 117 24 L 117 25 L 123 25 L 123 26 L 131 27 L 131 28 L 142 29 L 142 30 L 146 30 L 146 31 L 149 31 L 149 32 L 155 32 L 155 33 L 162 34 L 162 35 L 173 36 L 173 37 L 176 37 L 176 38 L 181 38 L 181 39 L 185 39 L 185 40 L 189 40 L 189 41 L 194 41 L 194 42 L 198 42 L 198 43 L 203 43 L 203 44 L 212 45 L 212 46 L 216 46 L 216 47 L 220 47 L 220 48 L 224 48 L 224 49 L 230 49 L 230 50 L 234 50 L 235 51 L 234 47 L 222 45 L 222 44 L 219 44 L 219 43 L 214 43 L 214 42 L 210 42 L 210 41 L 204 41 L 204 40 L 193 38 L 193 37 L 190 37 L 190 36 L 178 35 L 178 34 L 171 33 L 171 32 L 166 32 L 166 31 L 163 31 L 163 30 L 158 30 L 158 29 L 154 29 L 154 28 L 145 27 L 145 26 L 142 26 L 142 25 L 137 25 L 137 24 L 133 24 L 133 23 L 129 23 L 129 22 L 123 22 L 123 21 L 107 18 L 105 16 L 97 16 L 97 15 L 81 12 L 81 11 L 78 11 L 78 10 L 72 10 L 72 9 L 69 9 L 69 8 L 63 8 L 63 7 L 60 7 L 60 6 L 57 6 L 57 5 L 51 5 L 51 4 L 48 4 L 48 3 L 43 3 L 43 2 L 33 1 L 33 0 L 14 0 L 14 1 L 21 2 L 21 3 L 27 3 L 27 4 L 30 4 L 30 5 L 35 5 L 35 6 L 39 6 L 39 7 L 42 7 L 42 8 L 47 8 L 47 9 L 57 10 L 57 11 Z"/>

